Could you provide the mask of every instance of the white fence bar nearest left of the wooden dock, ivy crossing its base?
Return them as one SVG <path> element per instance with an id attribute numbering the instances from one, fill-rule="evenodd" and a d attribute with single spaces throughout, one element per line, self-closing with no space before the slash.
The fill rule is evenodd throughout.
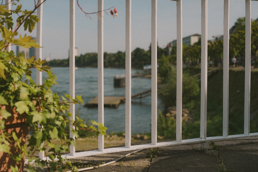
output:
<path id="1" fill-rule="evenodd" d="M 70 0 L 70 38 L 69 38 L 69 94 L 75 98 L 75 0 Z M 75 104 L 70 103 L 69 111 L 72 113 L 70 119 L 75 120 Z M 70 130 L 75 127 L 70 124 Z M 75 136 L 70 132 L 70 138 Z M 70 145 L 70 154 L 75 155 L 74 145 Z"/>

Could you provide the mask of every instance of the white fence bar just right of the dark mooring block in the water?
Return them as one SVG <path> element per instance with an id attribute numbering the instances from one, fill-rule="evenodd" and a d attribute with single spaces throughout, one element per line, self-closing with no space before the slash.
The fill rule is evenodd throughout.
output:
<path id="1" fill-rule="evenodd" d="M 132 1 L 125 4 L 125 146 L 131 146 L 131 12 Z"/>

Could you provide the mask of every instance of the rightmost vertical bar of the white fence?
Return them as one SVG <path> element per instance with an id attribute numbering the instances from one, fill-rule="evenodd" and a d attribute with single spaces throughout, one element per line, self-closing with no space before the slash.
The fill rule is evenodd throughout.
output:
<path id="1" fill-rule="evenodd" d="M 250 134 L 250 85 L 251 85 L 251 0 L 245 1 L 245 109 L 244 134 Z"/>

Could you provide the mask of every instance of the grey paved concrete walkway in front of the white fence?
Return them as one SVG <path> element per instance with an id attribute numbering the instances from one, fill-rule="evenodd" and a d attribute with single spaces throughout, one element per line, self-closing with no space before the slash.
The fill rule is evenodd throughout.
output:
<path id="1" fill-rule="evenodd" d="M 204 148 L 204 151 L 200 147 Z M 213 150 L 215 149 L 215 150 Z M 160 147 L 156 158 L 149 161 L 148 149 L 134 153 L 94 172 L 118 171 L 258 171 L 258 138 L 204 142 Z M 102 164 L 114 161 L 132 151 L 81 157 L 80 162 Z M 154 149 L 155 153 L 155 149 Z"/>

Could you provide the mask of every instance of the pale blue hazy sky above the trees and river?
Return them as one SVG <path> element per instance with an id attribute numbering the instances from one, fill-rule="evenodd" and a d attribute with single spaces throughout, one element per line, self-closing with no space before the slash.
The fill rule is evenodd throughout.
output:
<path id="1" fill-rule="evenodd" d="M 76 1 L 76 0 L 75 0 Z M 88 13 L 98 11 L 97 0 L 78 0 Z M 34 0 L 20 0 L 22 9 L 33 10 Z M 252 19 L 258 18 L 258 1 L 252 1 Z M 208 39 L 223 34 L 224 0 L 208 0 Z M 96 14 L 87 18 L 76 3 L 75 47 L 79 55 L 97 52 Z M 118 16 L 104 14 L 104 52 L 125 51 L 125 0 L 104 0 L 104 9 L 116 7 Z M 201 0 L 182 1 L 183 37 L 201 34 Z M 245 0 L 230 1 L 230 25 L 245 17 Z M 67 59 L 69 53 L 69 0 L 46 0 L 43 4 L 42 59 Z M 151 43 L 151 0 L 132 0 L 132 51 L 148 50 Z M 36 30 L 36 29 L 35 29 Z M 25 32 L 19 30 L 21 35 Z M 27 33 L 36 36 L 36 31 Z M 176 1 L 157 1 L 157 43 L 161 48 L 176 39 Z M 14 50 L 14 47 L 12 47 Z M 14 50 L 15 51 L 15 50 Z"/>

